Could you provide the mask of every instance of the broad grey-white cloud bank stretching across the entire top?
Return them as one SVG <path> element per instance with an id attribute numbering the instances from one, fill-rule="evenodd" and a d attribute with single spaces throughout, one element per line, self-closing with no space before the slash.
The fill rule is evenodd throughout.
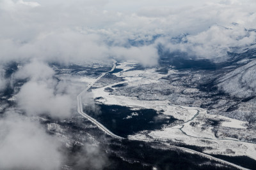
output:
<path id="1" fill-rule="evenodd" d="M 256 27 L 255 7 L 250 0 L 2 0 L 0 59 L 72 62 L 115 57 L 154 66 L 159 57 L 157 43 L 171 52 L 214 59 L 223 57 L 231 46 L 255 43 L 255 32 L 248 31 Z M 181 34 L 188 35 L 184 41 L 170 42 Z M 156 36 L 164 41 L 154 43 Z M 148 41 L 152 43 L 145 44 Z"/>

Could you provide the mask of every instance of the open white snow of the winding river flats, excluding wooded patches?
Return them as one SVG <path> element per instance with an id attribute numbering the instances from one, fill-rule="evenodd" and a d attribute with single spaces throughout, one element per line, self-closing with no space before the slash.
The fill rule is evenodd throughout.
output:
<path id="1" fill-rule="evenodd" d="M 228 136 L 228 130 L 227 134 L 221 134 L 215 131 L 216 127 L 218 127 L 218 129 L 234 129 L 236 131 L 246 132 L 247 122 L 221 115 L 209 115 L 207 114 L 207 110 L 202 108 L 179 106 L 170 103 L 168 100 L 140 100 L 138 97 L 113 95 L 109 90 L 106 90 L 106 88 L 115 90 L 118 88 L 116 85 L 124 83 L 127 84 L 127 87 L 131 85 L 140 86 L 142 84 L 157 83 L 160 81 L 160 78 L 166 76 L 157 73 L 154 68 L 143 70 L 132 69 L 134 64 L 136 63 L 122 62 L 116 66 L 116 68 L 122 69 L 122 71 L 114 73 L 115 76 L 122 77 L 124 81 L 92 89 L 93 97 L 97 98 L 96 101 L 108 105 L 129 106 L 134 110 L 134 115 L 130 115 L 130 117 L 136 116 L 136 110 L 147 108 L 161 111 L 161 113 L 177 118 L 182 122 L 173 127 L 163 127 L 160 131 L 141 131 L 136 135 L 129 136 L 130 139 L 143 141 L 161 140 L 166 144 L 170 143 L 170 141 L 175 141 L 186 145 L 204 147 L 204 153 L 246 155 L 256 160 L 255 143 L 247 143 L 245 141 L 239 141 L 235 137 L 230 137 Z M 168 74 L 173 73 L 175 73 L 173 70 L 168 72 Z M 92 80 L 83 78 L 81 81 L 90 83 Z M 196 92 L 198 92 L 196 89 L 186 90 L 186 93 Z"/>

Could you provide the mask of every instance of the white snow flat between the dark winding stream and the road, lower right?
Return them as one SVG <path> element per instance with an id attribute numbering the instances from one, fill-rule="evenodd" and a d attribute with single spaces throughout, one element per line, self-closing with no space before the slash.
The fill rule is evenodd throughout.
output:
<path id="1" fill-rule="evenodd" d="M 186 145 L 205 147 L 204 153 L 231 156 L 246 155 L 248 157 L 251 157 L 252 159 L 256 159 L 256 146 L 253 143 L 244 143 L 228 139 L 220 140 L 194 138 L 182 134 L 182 132 L 178 129 L 177 126 L 168 127 L 161 131 L 152 131 L 149 132 L 147 135 L 145 134 L 145 132 L 138 133 L 133 136 L 129 136 L 129 139 L 138 139 L 141 141 L 154 141 L 154 139 L 157 139 L 157 141 L 160 140 L 162 143 L 165 143 L 166 145 L 170 145 L 170 140 L 172 140 L 174 142 L 181 142 Z M 211 149 L 206 148 L 209 146 L 211 147 Z M 228 153 L 227 149 L 232 150 L 232 152 L 234 153 Z"/>

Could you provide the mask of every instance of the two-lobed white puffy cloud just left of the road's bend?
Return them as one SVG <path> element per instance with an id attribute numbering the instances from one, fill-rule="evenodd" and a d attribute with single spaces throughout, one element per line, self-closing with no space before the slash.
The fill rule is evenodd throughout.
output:
<path id="1" fill-rule="evenodd" d="M 74 99 L 63 93 L 63 84 L 53 77 L 54 71 L 44 62 L 33 62 L 21 67 L 15 78 L 29 78 L 17 94 L 17 101 L 28 115 L 47 114 L 53 118 L 67 118 L 71 115 Z M 61 90 L 62 89 L 62 90 Z M 68 91 L 70 92 L 70 91 Z"/>

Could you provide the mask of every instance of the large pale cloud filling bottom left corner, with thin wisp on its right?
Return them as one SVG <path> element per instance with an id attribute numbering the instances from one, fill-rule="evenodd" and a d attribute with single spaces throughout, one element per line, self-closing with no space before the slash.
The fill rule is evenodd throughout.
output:
<path id="1" fill-rule="evenodd" d="M 39 122 L 12 111 L 0 118 L 0 169 L 61 169 L 71 162 L 74 169 L 103 169 L 106 153 L 99 146 L 85 143 L 67 154 L 64 143 L 45 131 Z"/>

